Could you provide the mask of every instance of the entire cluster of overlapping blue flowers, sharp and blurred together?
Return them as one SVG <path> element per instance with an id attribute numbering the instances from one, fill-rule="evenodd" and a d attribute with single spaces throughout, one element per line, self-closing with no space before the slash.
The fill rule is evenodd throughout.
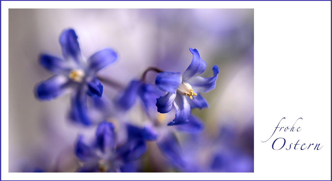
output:
<path id="1" fill-rule="evenodd" d="M 63 58 L 40 56 L 40 64 L 55 75 L 38 83 L 35 95 L 40 100 L 52 100 L 70 92 L 68 118 L 76 124 L 96 128 L 94 138 L 78 135 L 74 143 L 73 152 L 81 163 L 78 172 L 139 171 L 136 162 L 147 151 L 149 141 L 155 141 L 176 168 L 188 168 L 176 133 L 202 131 L 203 121 L 192 115 L 191 109 L 208 107 L 201 93 L 214 89 L 219 73 L 217 65 L 212 67 L 212 77 L 199 76 L 207 64 L 197 49 L 189 48 L 193 59 L 183 73 L 149 67 L 140 79 L 132 80 L 115 99 L 109 100 L 103 94 L 108 81 L 97 73 L 117 62 L 117 52 L 103 48 L 84 59 L 72 29 L 61 33 L 59 43 Z M 154 82 L 147 82 L 148 71 L 158 73 Z M 130 120 L 128 116 L 137 101 L 144 111 L 142 118 L 136 117 L 142 121 Z M 165 114 L 173 106 L 175 118 L 174 112 Z"/>

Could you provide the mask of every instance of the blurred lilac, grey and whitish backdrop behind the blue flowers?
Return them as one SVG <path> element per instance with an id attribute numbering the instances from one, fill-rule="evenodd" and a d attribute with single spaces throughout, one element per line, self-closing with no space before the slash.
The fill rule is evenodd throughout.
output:
<path id="1" fill-rule="evenodd" d="M 52 75 L 39 65 L 39 54 L 61 57 L 58 37 L 66 28 L 75 30 L 85 57 L 114 48 L 118 63 L 99 75 L 124 86 L 149 66 L 184 72 L 189 48 L 197 48 L 207 62 L 202 76 L 212 76 L 214 64 L 220 73 L 216 88 L 203 94 L 209 108 L 192 110 L 205 129 L 183 136 L 183 149 L 191 147 L 186 140 L 201 145 L 187 152 L 204 166 L 196 171 L 253 172 L 253 9 L 9 9 L 9 172 L 74 171 L 77 135 L 95 131 L 69 124 L 68 94 L 52 101 L 34 97 L 36 83 Z M 118 94 L 104 89 L 110 99 Z"/>

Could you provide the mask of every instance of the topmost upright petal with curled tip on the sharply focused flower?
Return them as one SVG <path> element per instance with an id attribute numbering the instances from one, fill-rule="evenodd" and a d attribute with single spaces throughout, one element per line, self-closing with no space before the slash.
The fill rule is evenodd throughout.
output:
<path id="1" fill-rule="evenodd" d="M 190 52 L 193 54 L 193 60 L 191 61 L 189 67 L 182 74 L 182 79 L 187 80 L 190 77 L 199 75 L 205 71 L 207 68 L 207 63 L 201 58 L 198 50 L 189 48 Z"/>

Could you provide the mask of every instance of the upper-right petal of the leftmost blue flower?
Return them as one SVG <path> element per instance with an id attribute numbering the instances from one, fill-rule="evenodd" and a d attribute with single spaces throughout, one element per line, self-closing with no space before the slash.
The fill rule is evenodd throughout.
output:
<path id="1" fill-rule="evenodd" d="M 111 48 L 102 49 L 88 59 L 88 67 L 94 73 L 116 62 L 118 58 L 117 53 Z"/>

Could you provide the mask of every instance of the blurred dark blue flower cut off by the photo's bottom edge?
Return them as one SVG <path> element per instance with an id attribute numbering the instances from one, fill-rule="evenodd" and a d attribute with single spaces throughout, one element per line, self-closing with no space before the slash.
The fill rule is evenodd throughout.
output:
<path id="1" fill-rule="evenodd" d="M 83 136 L 79 136 L 75 153 L 84 164 L 78 171 L 128 171 L 126 167 L 131 166 L 131 163 L 142 156 L 146 151 L 145 141 L 139 137 L 133 138 L 130 134 L 127 142 L 119 147 L 116 145 L 113 124 L 104 121 L 98 125 L 96 137 L 92 144 L 86 144 L 83 140 Z"/>

